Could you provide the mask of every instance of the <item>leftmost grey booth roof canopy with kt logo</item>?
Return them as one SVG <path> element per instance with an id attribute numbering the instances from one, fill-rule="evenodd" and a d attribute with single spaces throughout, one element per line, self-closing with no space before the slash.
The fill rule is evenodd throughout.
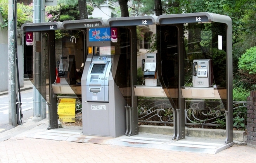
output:
<path id="1" fill-rule="evenodd" d="M 24 32 L 53 31 L 61 29 L 62 22 L 42 22 L 22 24 L 21 30 Z"/>

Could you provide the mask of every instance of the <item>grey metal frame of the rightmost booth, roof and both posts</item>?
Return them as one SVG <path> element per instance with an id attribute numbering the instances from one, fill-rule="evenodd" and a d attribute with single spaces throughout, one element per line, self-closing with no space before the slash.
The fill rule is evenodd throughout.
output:
<path id="1" fill-rule="evenodd" d="M 226 47 L 227 47 L 227 110 L 226 114 L 226 140 L 225 144 L 228 148 L 234 144 L 233 142 L 233 95 L 232 95 L 232 20 L 230 17 L 219 14 L 212 14 L 208 12 L 201 13 L 190 13 L 190 14 L 173 14 L 173 15 L 160 15 L 157 17 L 157 26 L 161 25 L 174 25 L 182 26 L 185 23 L 198 23 L 198 22 L 219 22 L 226 25 Z M 183 46 L 183 31 L 178 31 L 179 41 L 178 44 Z M 182 98 L 182 83 L 184 82 L 183 77 L 183 48 L 179 48 L 179 83 L 178 83 L 178 94 L 179 94 L 179 106 L 180 108 L 174 109 L 174 140 L 180 140 L 185 138 L 185 113 L 184 113 L 184 98 Z"/>

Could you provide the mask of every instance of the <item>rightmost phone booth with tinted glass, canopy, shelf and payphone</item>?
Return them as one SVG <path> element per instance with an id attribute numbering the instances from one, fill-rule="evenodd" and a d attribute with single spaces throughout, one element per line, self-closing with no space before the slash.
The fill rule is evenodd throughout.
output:
<path id="1" fill-rule="evenodd" d="M 185 138 L 185 120 L 188 118 L 185 112 L 188 115 L 192 110 L 192 114 L 206 115 L 222 111 L 226 117 L 226 140 L 220 149 L 232 146 L 230 17 L 202 12 L 160 15 L 156 22 L 157 51 L 160 54 L 157 56 L 157 70 L 173 106 L 173 140 Z"/>

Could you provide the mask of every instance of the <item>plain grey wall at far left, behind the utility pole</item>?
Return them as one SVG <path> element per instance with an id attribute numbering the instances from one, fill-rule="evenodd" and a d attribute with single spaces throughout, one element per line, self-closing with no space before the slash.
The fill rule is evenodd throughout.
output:
<path id="1" fill-rule="evenodd" d="M 24 86 L 24 57 L 21 39 L 17 41 L 18 62 L 19 62 L 19 81 L 20 86 Z M 0 30 L 0 92 L 8 91 L 8 30 Z"/>

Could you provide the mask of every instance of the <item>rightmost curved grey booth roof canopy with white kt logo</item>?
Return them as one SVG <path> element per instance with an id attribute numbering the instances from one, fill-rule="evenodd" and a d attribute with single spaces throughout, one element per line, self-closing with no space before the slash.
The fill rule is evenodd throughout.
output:
<path id="1" fill-rule="evenodd" d="M 156 24 L 180 24 L 192 22 L 220 22 L 225 24 L 231 24 L 232 20 L 228 16 L 213 14 L 209 12 L 160 15 L 156 19 Z"/>

